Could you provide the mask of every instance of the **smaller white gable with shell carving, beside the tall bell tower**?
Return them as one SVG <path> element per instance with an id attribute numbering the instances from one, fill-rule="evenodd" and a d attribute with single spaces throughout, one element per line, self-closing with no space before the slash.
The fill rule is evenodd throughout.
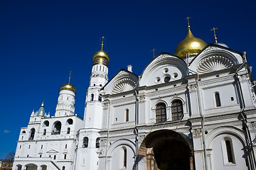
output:
<path id="1" fill-rule="evenodd" d="M 104 87 L 104 94 L 119 94 L 131 91 L 137 86 L 137 75 L 121 69 Z"/>

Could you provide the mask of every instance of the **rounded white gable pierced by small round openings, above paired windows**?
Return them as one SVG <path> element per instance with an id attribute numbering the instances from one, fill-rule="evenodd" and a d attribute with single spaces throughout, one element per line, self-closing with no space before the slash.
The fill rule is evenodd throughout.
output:
<path id="1" fill-rule="evenodd" d="M 180 57 L 161 53 L 152 60 L 142 73 L 139 86 L 153 86 L 182 79 L 188 75 L 187 64 Z"/>

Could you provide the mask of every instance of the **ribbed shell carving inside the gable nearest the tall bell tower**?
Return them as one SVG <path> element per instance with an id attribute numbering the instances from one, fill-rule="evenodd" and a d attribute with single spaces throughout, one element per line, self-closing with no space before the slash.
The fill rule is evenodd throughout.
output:
<path id="1" fill-rule="evenodd" d="M 112 94 L 119 94 L 124 91 L 130 91 L 134 89 L 135 86 L 136 86 L 136 82 L 133 79 L 129 79 L 129 78 L 121 79 L 117 81 L 116 84 L 114 84 Z"/>

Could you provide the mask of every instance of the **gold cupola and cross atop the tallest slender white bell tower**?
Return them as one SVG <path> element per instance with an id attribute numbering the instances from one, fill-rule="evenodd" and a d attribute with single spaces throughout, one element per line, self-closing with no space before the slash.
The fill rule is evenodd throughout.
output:
<path id="1" fill-rule="evenodd" d="M 103 39 L 104 36 L 102 37 L 102 48 L 100 51 L 97 51 L 93 55 L 93 62 L 92 65 L 95 64 L 102 64 L 108 67 L 108 62 L 110 61 L 110 56 L 107 54 L 107 52 L 103 51 Z"/>

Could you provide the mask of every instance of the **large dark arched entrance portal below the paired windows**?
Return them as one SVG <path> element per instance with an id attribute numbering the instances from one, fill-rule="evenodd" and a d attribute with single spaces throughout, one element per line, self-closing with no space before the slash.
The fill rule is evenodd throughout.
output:
<path id="1" fill-rule="evenodd" d="M 193 144 L 174 130 L 156 130 L 146 135 L 139 146 L 146 159 L 146 170 L 193 170 Z"/>

